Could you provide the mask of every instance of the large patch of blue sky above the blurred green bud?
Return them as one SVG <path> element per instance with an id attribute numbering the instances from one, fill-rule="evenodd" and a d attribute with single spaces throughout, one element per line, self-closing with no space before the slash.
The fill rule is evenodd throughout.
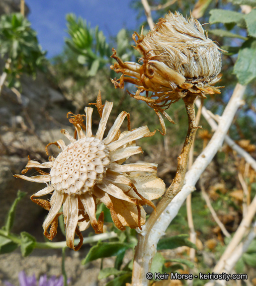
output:
<path id="1" fill-rule="evenodd" d="M 130 8 L 131 0 L 26 0 L 32 28 L 37 31 L 39 43 L 47 58 L 62 52 L 67 37 L 66 14 L 81 16 L 91 27 L 99 26 L 108 38 L 122 28 L 138 29 L 136 14 Z"/>

